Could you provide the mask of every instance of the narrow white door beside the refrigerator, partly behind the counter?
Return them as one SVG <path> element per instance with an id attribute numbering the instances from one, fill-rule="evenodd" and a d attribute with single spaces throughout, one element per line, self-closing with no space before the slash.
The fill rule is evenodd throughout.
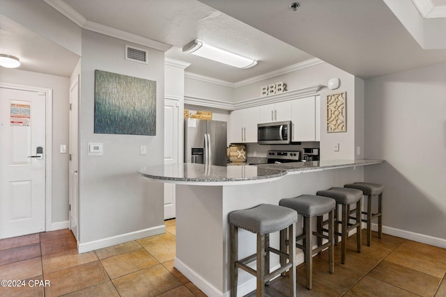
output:
<path id="1" fill-rule="evenodd" d="M 179 161 L 179 118 L 178 100 L 164 99 L 164 164 Z M 175 184 L 164 184 L 164 220 L 176 216 L 175 195 Z"/>

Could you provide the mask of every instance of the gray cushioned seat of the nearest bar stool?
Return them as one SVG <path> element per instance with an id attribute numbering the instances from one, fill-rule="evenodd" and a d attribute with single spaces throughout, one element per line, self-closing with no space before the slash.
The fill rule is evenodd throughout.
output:
<path id="1" fill-rule="evenodd" d="M 298 221 L 298 214 L 286 207 L 273 204 L 260 204 L 251 209 L 232 211 L 229 223 L 256 234 L 266 234 L 283 230 Z"/>

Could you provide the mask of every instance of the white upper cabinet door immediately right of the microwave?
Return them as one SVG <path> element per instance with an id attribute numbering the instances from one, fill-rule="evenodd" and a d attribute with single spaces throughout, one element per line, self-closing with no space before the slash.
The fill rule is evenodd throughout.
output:
<path id="1" fill-rule="evenodd" d="M 291 101 L 293 141 L 316 141 L 316 101 L 306 97 Z"/>

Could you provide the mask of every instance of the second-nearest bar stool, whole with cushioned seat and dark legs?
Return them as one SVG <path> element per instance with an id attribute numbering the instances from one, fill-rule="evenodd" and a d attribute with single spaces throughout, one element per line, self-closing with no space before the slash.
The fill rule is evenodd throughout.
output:
<path id="1" fill-rule="evenodd" d="M 305 263 L 307 264 L 307 289 L 312 289 L 313 255 L 328 248 L 328 271 L 334 273 L 333 254 L 333 212 L 336 209 L 336 201 L 332 198 L 316 195 L 300 195 L 296 198 L 286 198 L 279 202 L 279 205 L 289 207 L 304 217 L 304 228 L 302 235 L 296 238 L 296 247 L 304 251 Z M 323 215 L 328 214 L 328 235 L 323 234 Z M 317 232 L 312 232 L 312 218 L 317 218 Z M 318 246 L 313 249 L 312 235 L 317 236 Z M 328 239 L 322 244 L 322 239 Z M 302 240 L 302 245 L 297 241 Z M 280 238 L 281 246 L 286 245 L 286 240 Z"/>

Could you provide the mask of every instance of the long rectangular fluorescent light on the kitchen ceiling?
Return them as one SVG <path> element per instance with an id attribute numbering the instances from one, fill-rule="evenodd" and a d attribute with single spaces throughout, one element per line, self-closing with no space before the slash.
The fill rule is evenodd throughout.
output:
<path id="1" fill-rule="evenodd" d="M 183 51 L 185 53 L 194 54 L 243 69 L 251 68 L 257 65 L 257 61 L 245 58 L 243 56 L 238 56 L 230 53 L 229 51 L 224 51 L 223 49 L 217 49 L 217 47 L 213 47 L 212 45 L 206 45 L 204 42 L 198 39 L 185 45 L 185 47 L 183 47 Z"/>

